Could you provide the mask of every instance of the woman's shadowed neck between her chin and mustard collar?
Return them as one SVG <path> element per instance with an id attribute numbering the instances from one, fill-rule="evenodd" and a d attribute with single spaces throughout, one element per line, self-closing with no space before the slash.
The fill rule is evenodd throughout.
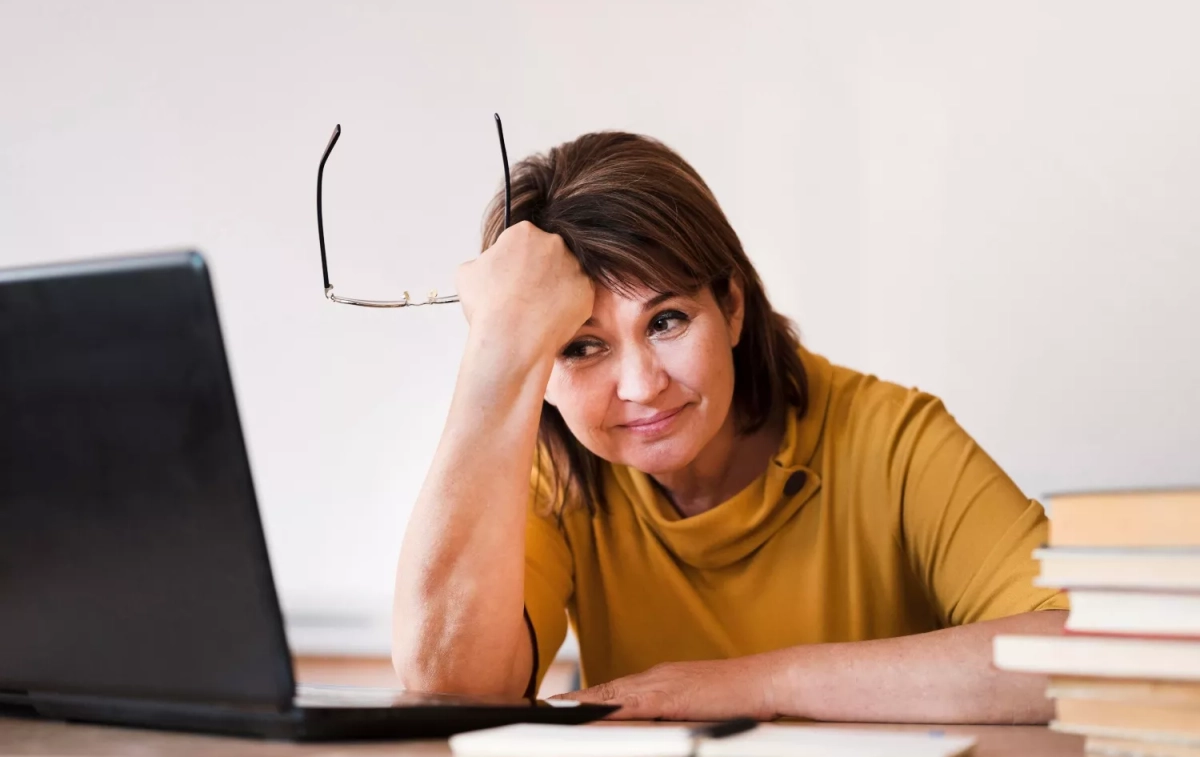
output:
<path id="1" fill-rule="evenodd" d="M 776 408 L 762 428 L 750 435 L 737 433 L 731 410 L 716 435 L 688 467 L 654 476 L 683 517 L 700 515 L 730 499 L 762 475 L 779 451 L 786 415 Z"/>

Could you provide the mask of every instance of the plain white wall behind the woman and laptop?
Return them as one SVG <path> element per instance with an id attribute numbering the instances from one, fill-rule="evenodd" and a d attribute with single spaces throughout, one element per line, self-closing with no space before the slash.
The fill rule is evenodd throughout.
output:
<path id="1" fill-rule="evenodd" d="M 0 0 L 0 264 L 212 265 L 276 577 L 386 645 L 514 160 L 653 134 L 830 358 L 942 395 L 1031 495 L 1200 482 L 1200 4 Z M 322 636 L 320 623 L 332 624 Z"/>

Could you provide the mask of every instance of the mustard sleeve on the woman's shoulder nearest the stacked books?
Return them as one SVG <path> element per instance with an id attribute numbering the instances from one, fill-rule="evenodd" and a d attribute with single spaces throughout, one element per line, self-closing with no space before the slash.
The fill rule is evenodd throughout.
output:
<path id="1" fill-rule="evenodd" d="M 1067 609 L 1067 595 L 1033 585 L 1033 549 L 1046 541 L 1042 505 L 1028 499 L 958 425 L 940 399 L 913 391 L 889 445 L 901 540 L 942 624 Z"/>

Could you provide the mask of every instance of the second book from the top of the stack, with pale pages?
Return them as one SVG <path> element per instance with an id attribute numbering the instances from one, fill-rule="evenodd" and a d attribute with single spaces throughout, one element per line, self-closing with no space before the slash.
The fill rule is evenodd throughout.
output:
<path id="1" fill-rule="evenodd" d="M 1036 549 L 1033 583 L 1052 589 L 1182 589 L 1200 591 L 1200 548 Z"/>

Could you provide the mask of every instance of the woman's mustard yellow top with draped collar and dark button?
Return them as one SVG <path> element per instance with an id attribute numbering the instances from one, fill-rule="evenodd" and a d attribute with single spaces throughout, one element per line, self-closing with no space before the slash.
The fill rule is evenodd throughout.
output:
<path id="1" fill-rule="evenodd" d="M 605 467 L 600 511 L 569 506 L 562 527 L 535 492 L 524 591 L 539 684 L 568 617 L 593 685 L 659 662 L 1068 607 L 1032 584 L 1042 505 L 941 401 L 800 358 L 808 413 L 790 414 L 767 470 L 716 507 L 683 518 L 624 465 Z"/>

